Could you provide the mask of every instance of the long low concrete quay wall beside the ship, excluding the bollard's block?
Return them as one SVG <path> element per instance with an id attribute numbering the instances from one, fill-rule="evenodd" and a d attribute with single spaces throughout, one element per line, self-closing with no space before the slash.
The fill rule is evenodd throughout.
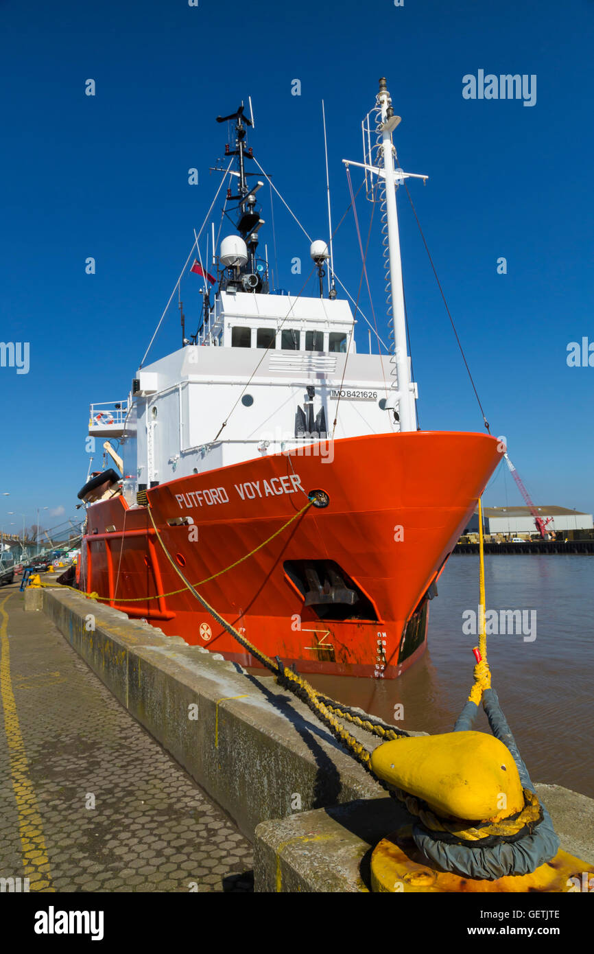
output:
<path id="1" fill-rule="evenodd" d="M 43 608 L 247 838 L 266 819 L 384 795 L 309 709 L 270 678 L 73 591 L 44 589 Z"/>

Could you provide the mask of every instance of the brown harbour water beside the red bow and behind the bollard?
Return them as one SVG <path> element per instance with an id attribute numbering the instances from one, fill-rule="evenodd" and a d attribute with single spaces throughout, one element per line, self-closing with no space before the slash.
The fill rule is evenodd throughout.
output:
<path id="1" fill-rule="evenodd" d="M 522 633 L 487 637 L 493 688 L 531 778 L 590 797 L 593 583 L 594 557 L 588 555 L 485 557 L 487 610 L 536 610 L 533 641 Z M 401 704 L 401 728 L 451 731 L 473 679 L 471 650 L 478 639 L 462 633 L 462 612 L 477 612 L 479 557 L 452 556 L 439 591 L 431 603 L 427 652 L 399 679 L 318 675 L 310 681 L 388 722 Z M 482 712 L 475 728 L 489 731 Z"/>

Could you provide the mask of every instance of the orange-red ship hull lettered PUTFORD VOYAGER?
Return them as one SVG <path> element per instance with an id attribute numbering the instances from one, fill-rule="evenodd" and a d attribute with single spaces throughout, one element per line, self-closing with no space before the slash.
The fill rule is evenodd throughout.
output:
<path id="1" fill-rule="evenodd" d="M 292 452 L 153 487 L 154 522 L 185 576 L 199 584 L 274 534 L 308 492 L 323 489 L 327 508 L 309 508 L 235 569 L 197 589 L 260 649 L 296 663 L 299 672 L 394 678 L 425 648 L 426 593 L 501 459 L 498 442 L 418 431 L 333 447 L 332 463 Z M 194 526 L 168 524 L 187 516 Z M 146 508 L 129 509 L 115 497 L 89 507 L 88 520 L 81 588 L 168 635 L 255 665 L 187 590 L 120 602 L 183 586 Z M 334 608 L 305 606 L 295 568 L 312 560 L 338 565 L 358 591 L 360 618 L 333 620 Z"/>

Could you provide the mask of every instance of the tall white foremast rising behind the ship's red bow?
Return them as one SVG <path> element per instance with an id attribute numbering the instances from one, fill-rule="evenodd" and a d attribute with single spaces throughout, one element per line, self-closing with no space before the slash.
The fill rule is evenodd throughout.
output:
<path id="1" fill-rule="evenodd" d="M 386 213 L 390 248 L 390 285 L 392 288 L 392 321 L 394 323 L 394 344 L 396 348 L 395 358 L 399 390 L 400 430 L 417 430 L 417 409 L 415 405 L 416 388 L 410 379 L 410 363 L 406 346 L 406 319 L 404 317 L 402 262 L 400 259 L 400 237 L 398 212 L 396 208 L 394 146 L 392 144 L 392 131 L 398 126 L 400 118 L 394 115 L 390 93 L 388 93 L 386 89 L 385 79 L 383 78 L 379 80 L 378 103 L 381 107 L 381 151 L 383 154 L 383 168 L 385 172 Z"/>

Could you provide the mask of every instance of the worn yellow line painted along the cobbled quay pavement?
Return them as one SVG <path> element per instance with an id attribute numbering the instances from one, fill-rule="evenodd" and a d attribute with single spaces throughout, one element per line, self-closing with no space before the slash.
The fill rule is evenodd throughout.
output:
<path id="1" fill-rule="evenodd" d="M 22 845 L 23 869 L 30 879 L 32 891 L 54 891 L 51 884 L 50 861 L 43 835 L 43 822 L 31 782 L 25 742 L 16 712 L 10 677 L 9 614 L 5 606 L 10 599 L 0 602 L 0 695 L 4 713 L 4 729 L 9 745 L 10 777 L 18 811 L 18 826 Z"/>

